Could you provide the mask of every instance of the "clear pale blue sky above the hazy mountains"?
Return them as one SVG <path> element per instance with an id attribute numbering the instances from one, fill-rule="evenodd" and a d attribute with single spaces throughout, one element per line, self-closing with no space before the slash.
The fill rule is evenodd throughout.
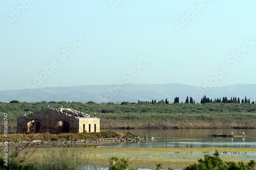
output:
<path id="1" fill-rule="evenodd" d="M 0 90 L 256 84 L 256 1 L 0 1 Z"/>

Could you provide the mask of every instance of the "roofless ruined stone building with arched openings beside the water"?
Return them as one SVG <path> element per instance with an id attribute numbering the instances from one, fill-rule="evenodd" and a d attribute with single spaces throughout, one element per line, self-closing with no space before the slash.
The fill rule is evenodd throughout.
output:
<path id="1" fill-rule="evenodd" d="M 46 108 L 17 119 L 17 133 L 91 133 L 99 129 L 99 118 L 74 109 Z"/>

